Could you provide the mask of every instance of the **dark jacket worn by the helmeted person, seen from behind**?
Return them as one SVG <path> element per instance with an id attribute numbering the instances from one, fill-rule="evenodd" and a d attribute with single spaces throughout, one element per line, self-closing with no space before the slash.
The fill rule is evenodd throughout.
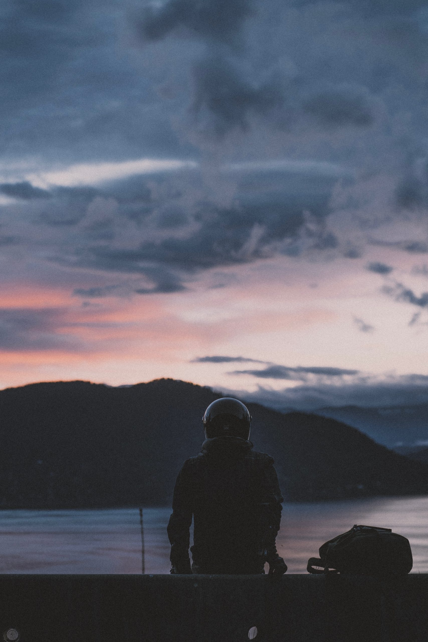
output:
<path id="1" fill-rule="evenodd" d="M 263 573 L 278 557 L 275 537 L 283 498 L 273 458 L 239 437 L 214 437 L 184 462 L 167 528 L 171 564 L 196 573 Z"/>

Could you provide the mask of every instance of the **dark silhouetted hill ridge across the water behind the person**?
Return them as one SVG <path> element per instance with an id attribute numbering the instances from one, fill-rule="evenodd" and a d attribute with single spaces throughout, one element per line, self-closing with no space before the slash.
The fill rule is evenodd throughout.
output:
<path id="1" fill-rule="evenodd" d="M 203 442 L 210 388 L 157 379 L 0 391 L 0 507 L 168 505 L 176 474 Z M 248 404 L 255 449 L 275 458 L 291 501 L 428 493 L 428 466 L 319 415 Z"/>

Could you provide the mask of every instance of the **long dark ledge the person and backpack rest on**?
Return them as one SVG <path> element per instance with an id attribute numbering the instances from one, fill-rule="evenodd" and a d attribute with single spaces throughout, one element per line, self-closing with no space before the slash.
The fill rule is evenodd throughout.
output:
<path id="1" fill-rule="evenodd" d="M 0 640 L 427 642 L 428 574 L 0 575 Z M 13 639 L 13 638 L 12 638 Z"/>

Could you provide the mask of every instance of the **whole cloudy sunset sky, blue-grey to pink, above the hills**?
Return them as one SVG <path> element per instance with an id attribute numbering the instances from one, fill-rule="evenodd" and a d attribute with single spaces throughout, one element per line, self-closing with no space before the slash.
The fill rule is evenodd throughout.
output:
<path id="1" fill-rule="evenodd" d="M 428 3 L 4 0 L 0 387 L 428 401 Z"/>

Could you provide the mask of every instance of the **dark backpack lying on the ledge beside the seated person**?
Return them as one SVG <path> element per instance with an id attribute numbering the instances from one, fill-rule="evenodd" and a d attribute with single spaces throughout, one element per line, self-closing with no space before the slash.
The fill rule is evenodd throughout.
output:
<path id="1" fill-rule="evenodd" d="M 314 566 L 323 567 L 323 571 Z M 320 546 L 320 558 L 307 562 L 309 573 L 406 575 L 413 566 L 409 540 L 378 526 L 352 526 Z M 329 571 L 329 569 L 334 569 Z"/>

